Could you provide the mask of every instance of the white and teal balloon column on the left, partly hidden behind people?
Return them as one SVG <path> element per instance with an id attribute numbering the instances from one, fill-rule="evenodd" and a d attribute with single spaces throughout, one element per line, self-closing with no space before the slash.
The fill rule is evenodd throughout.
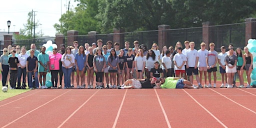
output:
<path id="1" fill-rule="evenodd" d="M 45 53 L 47 54 L 52 54 L 52 49 L 55 47 L 57 48 L 57 45 L 54 43 L 52 43 L 51 40 L 48 40 L 46 43 L 44 43 L 42 46 L 45 46 Z M 46 73 L 46 80 L 44 83 L 45 86 L 47 87 L 51 87 L 52 83 L 51 83 L 51 74 L 49 72 Z"/>

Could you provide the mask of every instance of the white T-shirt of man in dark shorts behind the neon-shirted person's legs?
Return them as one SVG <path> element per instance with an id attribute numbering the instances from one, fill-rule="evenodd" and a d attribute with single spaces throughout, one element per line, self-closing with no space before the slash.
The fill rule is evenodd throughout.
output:
<path id="1" fill-rule="evenodd" d="M 188 49 L 186 51 L 186 57 L 187 57 L 187 65 L 189 67 L 195 67 L 195 61 L 196 61 L 196 57 L 199 57 L 198 52 L 196 49 Z"/>

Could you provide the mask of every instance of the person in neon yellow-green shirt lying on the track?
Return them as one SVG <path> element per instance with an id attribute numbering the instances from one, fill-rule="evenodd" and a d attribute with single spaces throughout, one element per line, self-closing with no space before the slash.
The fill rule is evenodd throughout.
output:
<path id="1" fill-rule="evenodd" d="M 155 88 L 197 88 L 183 77 L 161 77 Z"/>

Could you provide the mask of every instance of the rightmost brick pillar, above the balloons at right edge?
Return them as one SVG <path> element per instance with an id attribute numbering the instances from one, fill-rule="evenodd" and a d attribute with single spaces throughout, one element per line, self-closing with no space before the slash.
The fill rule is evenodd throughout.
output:
<path id="1" fill-rule="evenodd" d="M 245 18 L 245 46 L 250 38 L 256 38 L 256 18 Z"/>

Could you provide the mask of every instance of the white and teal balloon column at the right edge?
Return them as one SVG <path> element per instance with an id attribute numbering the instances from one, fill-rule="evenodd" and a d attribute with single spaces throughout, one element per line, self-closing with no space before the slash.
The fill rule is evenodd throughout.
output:
<path id="1" fill-rule="evenodd" d="M 253 56 L 253 62 L 252 62 L 253 69 L 250 74 L 250 77 L 252 80 L 251 80 L 251 83 L 248 83 L 248 84 L 256 86 L 256 68 L 255 68 L 256 67 L 256 39 L 250 38 L 246 46 L 248 47 L 249 52 L 251 52 Z"/>

